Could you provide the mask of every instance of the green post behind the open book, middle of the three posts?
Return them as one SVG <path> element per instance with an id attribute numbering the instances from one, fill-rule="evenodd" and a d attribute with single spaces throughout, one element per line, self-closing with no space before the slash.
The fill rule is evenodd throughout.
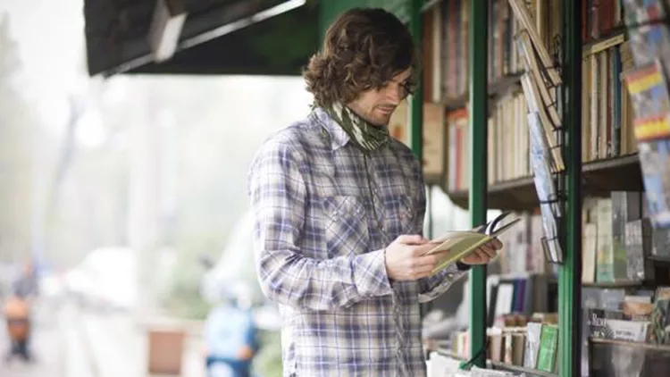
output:
<path id="1" fill-rule="evenodd" d="M 470 2 L 470 219 L 472 226 L 486 221 L 487 191 L 487 0 Z M 470 355 L 477 366 L 486 364 L 486 267 L 470 272 Z"/>

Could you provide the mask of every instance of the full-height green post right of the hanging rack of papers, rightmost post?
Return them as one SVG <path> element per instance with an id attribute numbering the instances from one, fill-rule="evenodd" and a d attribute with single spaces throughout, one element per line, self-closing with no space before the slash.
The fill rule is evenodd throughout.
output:
<path id="1" fill-rule="evenodd" d="M 582 38 L 579 2 L 563 3 L 563 124 L 567 203 L 565 262 L 558 279 L 560 375 L 581 375 L 582 303 Z"/>

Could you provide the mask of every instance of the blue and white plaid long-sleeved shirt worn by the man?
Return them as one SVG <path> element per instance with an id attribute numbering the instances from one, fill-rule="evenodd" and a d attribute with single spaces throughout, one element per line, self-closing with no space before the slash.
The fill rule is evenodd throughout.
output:
<path id="1" fill-rule="evenodd" d="M 425 189 L 410 149 L 365 154 L 322 111 L 255 155 L 256 269 L 280 305 L 284 376 L 423 376 L 419 303 L 464 274 L 389 281 L 384 248 L 422 234 Z"/>

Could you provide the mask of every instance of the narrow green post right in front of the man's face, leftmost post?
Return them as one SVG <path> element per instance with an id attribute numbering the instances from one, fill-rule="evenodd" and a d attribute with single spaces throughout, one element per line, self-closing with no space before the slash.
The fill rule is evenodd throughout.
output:
<path id="1" fill-rule="evenodd" d="M 409 17 L 409 29 L 412 32 L 412 38 L 414 39 L 416 49 L 418 50 L 421 47 L 423 26 L 422 26 L 422 13 L 421 7 L 423 5 L 423 0 L 410 0 L 408 4 L 410 10 Z M 416 72 L 416 82 L 419 83 L 419 86 L 415 90 L 415 94 L 410 96 L 409 99 L 409 127 L 411 130 L 410 133 L 410 145 L 412 151 L 415 153 L 416 158 L 419 161 L 423 161 L 423 91 L 422 91 L 422 77 L 423 74 L 421 70 Z"/>

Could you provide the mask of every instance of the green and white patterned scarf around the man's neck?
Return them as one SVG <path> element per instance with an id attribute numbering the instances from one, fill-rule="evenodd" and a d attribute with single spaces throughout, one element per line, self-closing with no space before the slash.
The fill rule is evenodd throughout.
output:
<path id="1" fill-rule="evenodd" d="M 386 127 L 365 121 L 347 106 L 333 104 L 324 110 L 347 132 L 351 142 L 364 152 L 372 152 L 389 142 L 390 135 Z"/>

